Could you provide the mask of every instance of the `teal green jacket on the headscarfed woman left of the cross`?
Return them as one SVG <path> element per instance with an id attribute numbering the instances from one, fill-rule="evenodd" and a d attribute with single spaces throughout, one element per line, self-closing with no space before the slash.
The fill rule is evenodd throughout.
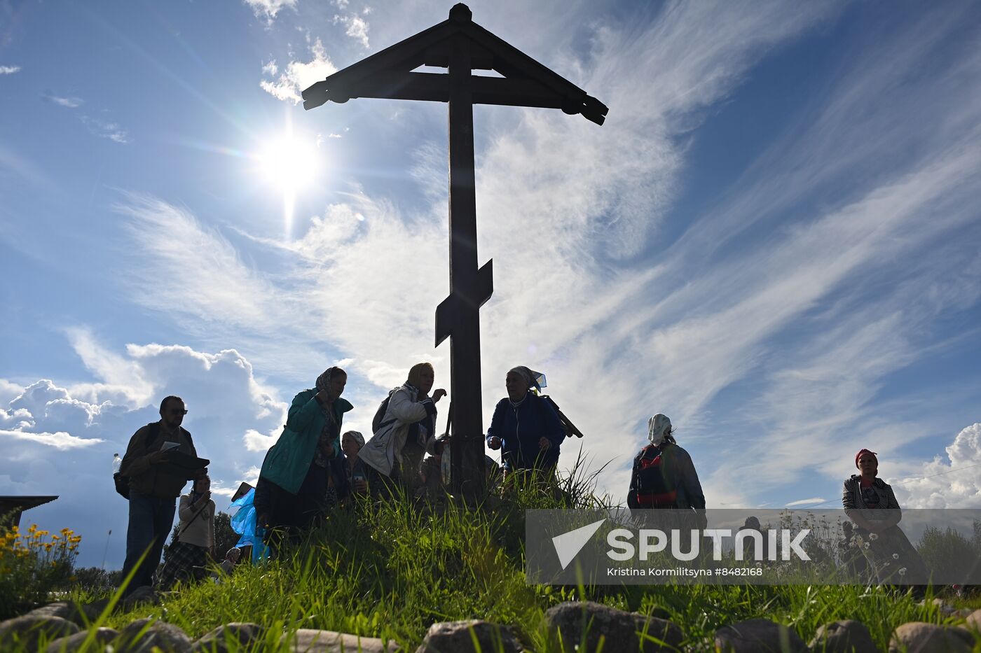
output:
<path id="1" fill-rule="evenodd" d="M 272 480 L 290 494 L 300 491 L 310 463 L 313 462 L 320 431 L 324 428 L 324 414 L 315 398 L 317 390 L 303 390 L 293 398 L 289 417 L 280 439 L 266 454 L 260 477 Z M 340 452 L 340 424 L 344 413 L 354 408 L 346 399 L 334 401 L 337 418 L 337 436 L 334 440 L 334 457 Z"/>

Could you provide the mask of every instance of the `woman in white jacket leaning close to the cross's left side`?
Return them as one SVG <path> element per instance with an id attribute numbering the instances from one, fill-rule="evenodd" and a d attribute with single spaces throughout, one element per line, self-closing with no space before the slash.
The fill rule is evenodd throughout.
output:
<path id="1" fill-rule="evenodd" d="M 436 373 L 429 363 L 419 363 L 409 370 L 402 385 L 388 393 L 388 405 L 381 424 L 358 457 L 369 473 L 374 491 L 392 481 L 406 492 L 414 493 L 422 485 L 420 467 L 426 453 L 434 453 L 436 443 L 436 404 L 446 395 L 442 388 L 429 396 Z"/>

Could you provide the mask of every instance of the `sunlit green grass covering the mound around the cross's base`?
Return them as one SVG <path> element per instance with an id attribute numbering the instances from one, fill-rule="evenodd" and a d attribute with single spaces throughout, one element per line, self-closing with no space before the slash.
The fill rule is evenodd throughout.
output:
<path id="1" fill-rule="evenodd" d="M 556 645 L 542 629 L 544 611 L 566 600 L 645 614 L 664 609 L 696 649 L 710 647 L 716 628 L 755 617 L 791 626 L 805 641 L 823 624 L 854 619 L 883 649 L 893 628 L 905 622 L 954 621 L 945 620 L 929 598 L 921 607 L 877 587 L 526 584 L 524 510 L 595 507 L 602 502 L 591 487 L 589 478 L 579 477 L 561 491 L 507 488 L 492 508 L 476 510 L 452 502 L 364 501 L 336 512 L 278 560 L 239 566 L 223 584 L 184 587 L 159 606 L 106 616 L 93 628 L 155 617 L 197 638 L 223 624 L 253 622 L 270 628 L 261 650 L 275 650 L 284 629 L 322 628 L 394 639 L 412 651 L 434 622 L 483 619 L 514 627 L 526 646 L 547 653 Z"/>

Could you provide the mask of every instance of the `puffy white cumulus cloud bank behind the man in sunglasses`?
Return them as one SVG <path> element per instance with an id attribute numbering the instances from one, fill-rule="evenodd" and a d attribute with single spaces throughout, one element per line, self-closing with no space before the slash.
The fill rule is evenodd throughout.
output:
<path id="1" fill-rule="evenodd" d="M 248 360 L 234 350 L 207 353 L 153 343 L 118 352 L 97 342 L 88 329 L 77 329 L 72 339 L 93 375 L 78 383 L 90 400 L 78 399 L 67 385 L 40 379 L 0 404 L 0 494 L 60 495 L 26 519 L 51 530 L 75 528 L 89 542 L 81 549 L 82 565 L 99 564 L 107 530 L 125 535 L 126 503 L 110 479 L 113 453 L 125 452 L 138 427 L 159 420 L 158 402 L 168 394 L 183 397 L 189 411 L 184 427 L 199 455 L 211 460 L 216 486 L 254 482 L 264 451 L 246 447 L 246 434 L 281 428 L 286 404 L 256 378 Z M 125 393 L 129 404 L 115 405 L 106 397 L 119 396 L 114 387 L 127 385 L 128 375 L 134 386 L 149 391 Z M 17 388 L 0 382 L 7 395 Z M 122 564 L 124 545 L 125 536 L 110 540 L 110 566 Z"/>

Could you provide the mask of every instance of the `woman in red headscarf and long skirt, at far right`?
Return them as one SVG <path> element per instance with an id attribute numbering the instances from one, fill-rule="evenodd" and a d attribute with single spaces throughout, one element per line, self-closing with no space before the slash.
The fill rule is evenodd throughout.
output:
<path id="1" fill-rule="evenodd" d="M 876 453 L 860 450 L 855 467 L 859 474 L 845 481 L 842 505 L 855 525 L 852 544 L 864 554 L 872 578 L 904 585 L 926 583 L 923 559 L 898 526 L 903 519 L 900 502 L 889 483 L 878 477 Z M 916 591 L 922 592 L 922 587 Z"/>

